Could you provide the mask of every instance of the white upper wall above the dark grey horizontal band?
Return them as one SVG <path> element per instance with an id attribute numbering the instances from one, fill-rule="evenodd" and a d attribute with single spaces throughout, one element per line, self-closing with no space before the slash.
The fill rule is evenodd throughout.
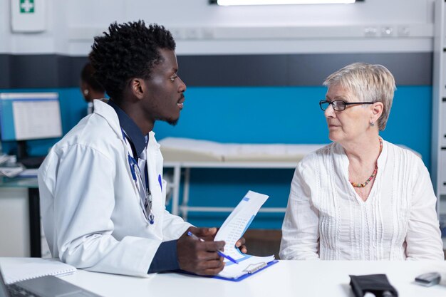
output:
<path id="1" fill-rule="evenodd" d="M 0 53 L 85 56 L 93 36 L 111 22 L 138 19 L 170 28 L 179 54 L 432 51 L 433 2 L 441 0 L 255 7 L 207 0 L 41 1 L 47 30 L 11 33 L 10 1 L 0 0 Z"/>

